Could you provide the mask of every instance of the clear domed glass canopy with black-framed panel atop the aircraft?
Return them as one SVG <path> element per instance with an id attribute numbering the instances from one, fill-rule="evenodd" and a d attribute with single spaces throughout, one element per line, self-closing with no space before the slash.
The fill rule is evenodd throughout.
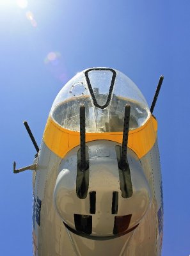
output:
<path id="1" fill-rule="evenodd" d="M 86 109 L 86 132 L 121 132 L 125 105 L 131 105 L 129 130 L 145 124 L 148 104 L 129 77 L 111 68 L 90 68 L 76 74 L 58 93 L 51 108 L 61 127 L 79 131 L 79 108 Z"/>

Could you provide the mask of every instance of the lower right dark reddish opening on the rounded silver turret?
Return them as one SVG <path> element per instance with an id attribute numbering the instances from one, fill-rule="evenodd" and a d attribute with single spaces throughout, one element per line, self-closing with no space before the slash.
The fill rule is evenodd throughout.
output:
<path id="1" fill-rule="evenodd" d="M 127 231 L 131 221 L 132 214 L 124 216 L 115 216 L 113 234 L 122 234 Z"/>

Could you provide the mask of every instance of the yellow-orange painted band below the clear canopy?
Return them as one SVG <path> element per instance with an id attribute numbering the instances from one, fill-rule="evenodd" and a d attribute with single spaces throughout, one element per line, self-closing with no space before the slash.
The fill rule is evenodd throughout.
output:
<path id="1" fill-rule="evenodd" d="M 157 121 L 154 116 L 150 116 L 143 126 L 129 131 L 128 147 L 141 158 L 153 147 L 156 137 Z M 122 143 L 122 138 L 123 132 L 86 132 L 86 142 L 110 140 Z M 44 142 L 52 152 L 63 158 L 72 148 L 80 145 L 80 134 L 59 126 L 49 116 L 44 131 Z"/>

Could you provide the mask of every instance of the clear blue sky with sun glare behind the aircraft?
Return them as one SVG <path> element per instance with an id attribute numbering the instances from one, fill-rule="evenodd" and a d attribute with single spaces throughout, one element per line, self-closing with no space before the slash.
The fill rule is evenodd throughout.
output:
<path id="1" fill-rule="evenodd" d="M 0 0 L 1 255 L 32 255 L 31 164 L 57 93 L 88 67 L 129 76 L 148 104 L 164 83 L 159 123 L 164 190 L 163 256 L 190 254 L 189 0 Z M 53 53 L 52 53 L 53 52 Z"/>

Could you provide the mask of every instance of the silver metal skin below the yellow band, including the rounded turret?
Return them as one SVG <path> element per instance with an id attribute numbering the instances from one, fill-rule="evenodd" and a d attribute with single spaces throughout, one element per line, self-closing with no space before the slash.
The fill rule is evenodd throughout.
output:
<path id="1" fill-rule="evenodd" d="M 61 157 L 42 139 L 35 159 L 36 170 L 33 171 L 34 256 L 161 255 L 163 203 L 157 140 L 142 157 L 127 148 L 132 195 L 126 198 L 122 195 L 117 147 L 121 147 L 121 143 L 116 140 L 86 142 L 89 183 L 88 188 L 84 186 L 86 196 L 79 198 L 77 172 L 80 145 Z M 96 193 L 92 213 L 91 192 Z M 115 212 L 113 193 L 118 195 Z M 89 234 L 79 232 L 75 216 L 90 216 L 92 226 Z M 120 218 L 123 222 L 115 231 L 116 220 Z"/>

